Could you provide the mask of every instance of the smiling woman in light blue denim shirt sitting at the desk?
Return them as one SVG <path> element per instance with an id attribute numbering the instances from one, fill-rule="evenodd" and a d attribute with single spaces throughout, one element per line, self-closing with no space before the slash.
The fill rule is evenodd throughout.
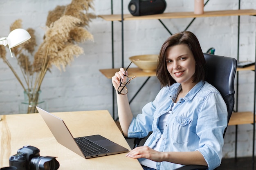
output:
<path id="1" fill-rule="evenodd" d="M 175 33 L 159 53 L 156 74 L 163 88 L 155 100 L 135 118 L 127 95 L 117 93 L 124 135 L 143 138 L 152 132 L 144 146 L 126 155 L 139 159 L 144 170 L 169 170 L 190 164 L 213 170 L 220 165 L 227 106 L 218 90 L 204 81 L 205 63 L 196 36 L 189 31 Z M 116 91 L 126 74 L 120 68 L 112 77 Z"/>

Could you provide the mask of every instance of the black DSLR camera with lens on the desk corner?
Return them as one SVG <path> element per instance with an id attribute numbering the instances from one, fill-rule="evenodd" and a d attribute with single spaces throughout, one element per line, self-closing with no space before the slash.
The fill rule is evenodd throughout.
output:
<path id="1" fill-rule="evenodd" d="M 10 167 L 17 170 L 57 170 L 60 164 L 56 157 L 41 157 L 40 150 L 34 146 L 24 146 L 9 159 Z"/>

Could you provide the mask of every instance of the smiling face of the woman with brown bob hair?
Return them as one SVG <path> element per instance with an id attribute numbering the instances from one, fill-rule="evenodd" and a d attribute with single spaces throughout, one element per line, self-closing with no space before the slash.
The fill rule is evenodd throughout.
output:
<path id="1" fill-rule="evenodd" d="M 193 83 L 195 58 L 186 44 L 168 47 L 166 50 L 166 66 L 176 82 L 180 84 Z"/>

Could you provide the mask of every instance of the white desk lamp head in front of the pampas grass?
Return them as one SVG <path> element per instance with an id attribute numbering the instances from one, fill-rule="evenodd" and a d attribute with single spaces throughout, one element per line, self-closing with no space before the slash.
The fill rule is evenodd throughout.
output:
<path id="1" fill-rule="evenodd" d="M 15 29 L 9 33 L 8 37 L 0 38 L 0 45 L 8 45 L 11 52 L 11 48 L 20 45 L 30 38 L 31 36 L 25 29 Z M 12 53 L 11 57 L 13 57 Z"/>

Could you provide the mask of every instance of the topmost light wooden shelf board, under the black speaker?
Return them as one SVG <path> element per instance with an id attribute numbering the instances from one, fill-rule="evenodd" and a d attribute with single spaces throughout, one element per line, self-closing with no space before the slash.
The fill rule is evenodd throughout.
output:
<path id="1" fill-rule="evenodd" d="M 238 15 L 256 15 L 255 9 L 237 9 L 223 11 L 204 11 L 201 15 L 195 15 L 194 12 L 171 12 L 155 15 L 133 16 L 124 14 L 124 20 L 154 20 L 154 19 L 171 19 L 171 18 L 202 18 L 202 17 L 220 17 L 220 16 L 238 16 Z M 98 15 L 106 21 L 121 21 L 121 14 Z"/>

